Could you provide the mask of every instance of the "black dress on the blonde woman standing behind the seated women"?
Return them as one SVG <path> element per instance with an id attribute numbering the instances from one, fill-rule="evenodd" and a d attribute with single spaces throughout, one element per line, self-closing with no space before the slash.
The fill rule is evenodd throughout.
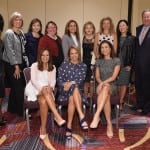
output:
<path id="1" fill-rule="evenodd" d="M 83 38 L 82 48 L 83 48 L 83 63 L 87 65 L 86 78 L 85 82 L 91 81 L 92 70 L 91 70 L 91 60 L 92 60 L 92 52 L 94 43 L 93 39 L 87 40 Z"/>

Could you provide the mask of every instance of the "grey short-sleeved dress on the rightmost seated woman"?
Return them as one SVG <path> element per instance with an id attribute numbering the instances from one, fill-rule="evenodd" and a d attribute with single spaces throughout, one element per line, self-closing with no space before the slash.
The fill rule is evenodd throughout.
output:
<path id="1" fill-rule="evenodd" d="M 100 68 L 99 73 L 100 73 L 101 80 L 105 81 L 106 79 L 111 77 L 114 72 L 114 68 L 120 64 L 121 64 L 120 59 L 117 57 L 113 58 L 113 59 L 98 59 L 98 60 L 96 60 L 96 67 Z M 112 81 L 110 83 L 110 85 L 112 88 L 112 95 L 116 95 L 117 94 L 116 81 Z"/>

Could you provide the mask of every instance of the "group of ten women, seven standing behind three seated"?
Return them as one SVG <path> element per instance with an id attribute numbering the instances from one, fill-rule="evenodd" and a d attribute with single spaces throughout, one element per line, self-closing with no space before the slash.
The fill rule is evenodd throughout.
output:
<path id="1" fill-rule="evenodd" d="M 134 65 L 135 37 L 130 33 L 128 22 L 120 20 L 116 33 L 112 19 L 103 18 L 100 21 L 100 31 L 96 34 L 94 24 L 91 21 L 86 22 L 83 26 L 82 44 L 75 20 L 67 22 L 62 39 L 57 35 L 57 25 L 53 21 L 46 24 L 44 35 L 41 21 L 37 18 L 31 21 L 28 33 L 23 33 L 22 26 L 22 15 L 18 12 L 13 13 L 10 18 L 10 28 L 6 31 L 3 40 L 5 76 L 11 87 L 8 111 L 23 115 L 25 88 L 23 69 L 31 66 L 31 81 L 25 88 L 25 94 L 31 101 L 38 99 L 41 114 L 40 139 L 44 144 L 50 149 L 55 149 L 46 134 L 49 108 L 54 113 L 59 126 L 66 123 L 55 106 L 55 89 L 58 100 L 68 101 L 67 139 L 72 136 L 75 110 L 79 116 L 81 129 L 87 130 L 88 123 L 82 112 L 82 102 L 93 96 L 93 83 L 90 82 L 91 59 L 92 55 L 95 55 L 98 98 L 97 111 L 90 128 L 98 127 L 99 116 L 103 110 L 107 120 L 106 133 L 112 138 L 110 97 L 119 91 L 120 108 L 123 108 L 130 71 Z"/>

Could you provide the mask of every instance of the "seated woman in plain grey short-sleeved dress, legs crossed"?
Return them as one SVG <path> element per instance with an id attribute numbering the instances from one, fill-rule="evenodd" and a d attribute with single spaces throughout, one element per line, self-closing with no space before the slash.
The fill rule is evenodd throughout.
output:
<path id="1" fill-rule="evenodd" d="M 107 136 L 112 138 L 110 96 L 117 94 L 116 78 L 120 70 L 120 59 L 114 57 L 113 46 L 106 40 L 101 42 L 99 54 L 100 59 L 96 60 L 97 110 L 90 128 L 98 127 L 100 113 L 103 110 L 107 121 Z"/>

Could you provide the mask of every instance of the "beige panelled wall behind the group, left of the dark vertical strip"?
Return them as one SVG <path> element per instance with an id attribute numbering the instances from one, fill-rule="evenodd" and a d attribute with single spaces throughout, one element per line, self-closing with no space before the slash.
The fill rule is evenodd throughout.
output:
<path id="1" fill-rule="evenodd" d="M 90 20 L 99 30 L 101 18 L 110 16 L 114 24 L 119 19 L 127 19 L 128 0 L 0 0 L 0 13 L 5 19 L 5 28 L 8 28 L 10 15 L 18 11 L 24 18 L 24 32 L 27 32 L 28 25 L 32 18 L 38 17 L 43 24 L 53 20 L 58 25 L 58 34 L 64 33 L 65 24 L 70 19 L 75 19 L 80 27 L 82 36 L 83 24 Z"/>

